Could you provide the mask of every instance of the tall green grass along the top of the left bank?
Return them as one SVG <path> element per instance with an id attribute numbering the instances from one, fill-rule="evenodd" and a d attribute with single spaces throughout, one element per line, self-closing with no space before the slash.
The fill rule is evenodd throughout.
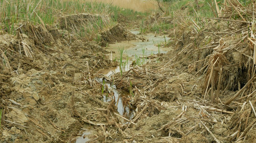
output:
<path id="1" fill-rule="evenodd" d="M 111 15 L 110 23 L 117 22 L 120 14 L 125 16 L 127 20 L 135 20 L 137 15 L 148 15 L 146 12 L 136 12 L 109 4 L 82 0 L 0 0 L 0 28 L 5 29 L 10 34 L 16 34 L 17 23 L 29 21 L 33 24 L 40 24 L 41 22 L 54 24 L 60 16 L 77 13 L 109 14 Z M 92 27 L 81 27 L 78 35 L 83 37 L 86 36 L 85 33 L 96 33 L 105 26 L 102 19 L 98 19 Z"/>

